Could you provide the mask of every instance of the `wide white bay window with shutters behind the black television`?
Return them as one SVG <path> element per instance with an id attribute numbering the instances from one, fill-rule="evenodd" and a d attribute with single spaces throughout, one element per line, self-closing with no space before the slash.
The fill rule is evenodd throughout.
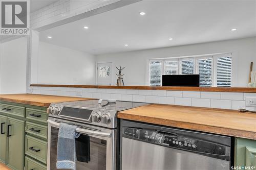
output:
<path id="1" fill-rule="evenodd" d="M 231 54 L 150 60 L 149 85 L 161 86 L 162 75 L 199 74 L 200 87 L 231 87 Z"/>

